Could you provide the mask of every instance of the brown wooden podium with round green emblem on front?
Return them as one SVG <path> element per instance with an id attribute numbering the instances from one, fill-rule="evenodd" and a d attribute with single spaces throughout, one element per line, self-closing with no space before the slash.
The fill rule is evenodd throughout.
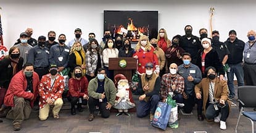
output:
<path id="1" fill-rule="evenodd" d="M 122 65 L 120 65 L 120 62 Z M 109 70 L 114 70 L 114 76 L 117 74 L 125 75 L 128 82 L 131 82 L 132 70 L 136 69 L 137 59 L 135 58 L 109 58 Z"/>

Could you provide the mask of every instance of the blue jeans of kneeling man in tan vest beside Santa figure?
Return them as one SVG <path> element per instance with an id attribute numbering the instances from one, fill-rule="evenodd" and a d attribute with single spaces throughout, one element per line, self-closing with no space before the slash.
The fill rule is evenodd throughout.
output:
<path id="1" fill-rule="evenodd" d="M 157 108 L 157 104 L 160 101 L 160 97 L 157 94 L 151 96 L 149 101 L 139 101 L 137 105 L 137 116 L 142 118 L 144 116 L 149 115 L 149 113 L 155 113 L 155 109 Z"/>

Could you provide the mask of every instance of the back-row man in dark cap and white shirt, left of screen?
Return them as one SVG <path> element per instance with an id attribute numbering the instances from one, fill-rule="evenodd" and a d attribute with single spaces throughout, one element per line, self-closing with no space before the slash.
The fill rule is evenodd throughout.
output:
<path id="1" fill-rule="evenodd" d="M 74 34 L 75 34 L 75 38 L 70 40 L 70 42 L 68 42 L 68 45 L 67 45 L 68 47 L 71 48 L 75 42 L 80 42 L 82 46 L 88 44 L 89 41 L 81 37 L 82 31 L 80 28 L 76 28 Z"/>

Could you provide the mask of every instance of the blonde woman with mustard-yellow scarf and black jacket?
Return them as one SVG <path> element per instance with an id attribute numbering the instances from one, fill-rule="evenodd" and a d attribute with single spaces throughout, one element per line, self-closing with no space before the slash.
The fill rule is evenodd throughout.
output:
<path id="1" fill-rule="evenodd" d="M 73 44 L 69 54 L 68 66 L 70 67 L 70 72 L 73 72 L 73 69 L 76 66 L 81 66 L 83 73 L 85 73 L 85 50 L 83 50 L 80 42 L 75 42 Z"/>

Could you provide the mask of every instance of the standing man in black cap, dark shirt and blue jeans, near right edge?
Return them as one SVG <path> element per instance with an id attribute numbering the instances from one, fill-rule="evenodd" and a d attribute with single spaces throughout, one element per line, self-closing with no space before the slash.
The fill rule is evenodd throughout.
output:
<path id="1" fill-rule="evenodd" d="M 228 89 L 229 89 L 229 98 L 233 99 L 236 96 L 234 91 L 234 74 L 236 74 L 237 85 L 244 85 L 244 71 L 242 70 L 242 58 L 244 51 L 244 42 L 237 39 L 236 31 L 229 31 L 229 38 L 225 42 L 230 54 L 228 55 L 227 64 L 229 66 L 227 70 L 228 75 Z"/>

